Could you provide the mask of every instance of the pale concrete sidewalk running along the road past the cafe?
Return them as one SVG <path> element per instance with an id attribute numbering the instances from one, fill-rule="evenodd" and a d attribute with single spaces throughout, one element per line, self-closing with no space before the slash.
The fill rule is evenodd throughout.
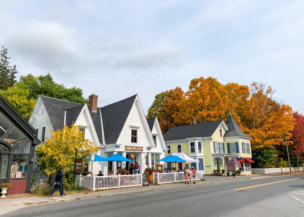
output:
<path id="1" fill-rule="evenodd" d="M 204 184 L 219 184 L 226 182 L 234 182 L 241 181 L 244 179 L 255 179 L 255 178 L 267 178 L 267 175 L 257 175 L 251 174 L 246 176 L 236 176 L 236 177 L 221 177 L 221 176 L 204 176 L 206 181 L 197 181 L 197 184 L 185 184 L 184 182 L 179 183 L 170 183 L 170 184 L 160 184 L 150 186 L 140 186 L 133 188 L 122 188 L 122 189 L 112 189 L 112 190 L 104 190 L 104 191 L 94 191 L 87 194 L 68 194 L 65 197 L 60 197 L 59 195 L 54 195 L 53 198 L 49 197 L 22 197 L 22 198 L 5 198 L 0 200 L 0 215 L 3 215 L 8 212 L 15 211 L 19 208 L 22 208 L 26 205 L 30 204 L 41 204 L 41 203 L 49 203 L 49 202 L 61 202 L 61 201 L 70 201 L 70 200 L 79 200 L 86 198 L 94 198 L 94 197 L 102 197 L 102 196 L 112 196 L 112 195 L 120 195 L 127 194 L 133 192 L 140 191 L 151 191 L 151 190 L 160 190 L 160 189 L 168 189 L 168 188 L 181 188 L 188 186 L 196 186 L 196 185 L 204 185 Z"/>

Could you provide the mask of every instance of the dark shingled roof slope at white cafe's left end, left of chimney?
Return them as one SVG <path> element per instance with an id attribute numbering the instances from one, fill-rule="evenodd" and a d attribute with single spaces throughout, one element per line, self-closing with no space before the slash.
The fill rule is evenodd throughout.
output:
<path id="1" fill-rule="evenodd" d="M 50 122 L 53 126 L 53 130 L 61 130 L 64 126 L 64 111 L 75 106 L 81 105 L 76 102 L 64 101 L 61 99 L 55 99 L 47 96 L 41 96 L 47 115 L 49 116 Z"/>

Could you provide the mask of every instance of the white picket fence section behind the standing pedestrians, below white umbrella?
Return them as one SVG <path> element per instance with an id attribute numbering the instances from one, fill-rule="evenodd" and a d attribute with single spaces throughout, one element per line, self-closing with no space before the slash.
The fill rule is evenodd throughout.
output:
<path id="1" fill-rule="evenodd" d="M 196 180 L 203 178 L 203 171 L 196 171 Z M 190 172 L 190 180 L 194 181 L 192 172 Z M 164 184 L 171 182 L 181 182 L 185 181 L 184 172 L 178 173 L 153 173 L 153 184 Z"/>

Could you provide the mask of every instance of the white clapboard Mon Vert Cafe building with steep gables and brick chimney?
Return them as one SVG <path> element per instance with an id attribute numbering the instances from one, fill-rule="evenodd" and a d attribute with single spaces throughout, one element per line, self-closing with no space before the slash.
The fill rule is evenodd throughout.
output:
<path id="1" fill-rule="evenodd" d="M 128 157 L 134 152 L 133 164 L 140 164 L 140 173 L 147 167 L 155 168 L 155 165 L 160 164 L 159 159 L 164 157 L 167 146 L 157 118 L 146 119 L 138 95 L 104 107 L 97 107 L 97 99 L 97 95 L 90 95 L 88 106 L 85 103 L 39 96 L 29 123 L 37 130 L 37 137 L 42 142 L 51 137 L 50 129 L 61 130 L 64 125 L 71 126 L 73 123 L 81 126 L 85 139 L 100 146 L 96 154 L 101 157 L 116 153 Z M 107 175 L 115 166 L 128 169 L 130 163 L 94 162 L 92 172 L 98 174 L 102 170 Z M 90 164 L 88 171 L 91 171 Z"/>

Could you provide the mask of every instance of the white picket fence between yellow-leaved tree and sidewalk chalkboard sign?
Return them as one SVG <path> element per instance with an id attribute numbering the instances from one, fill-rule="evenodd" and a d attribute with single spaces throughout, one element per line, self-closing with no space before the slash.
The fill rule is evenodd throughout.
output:
<path id="1" fill-rule="evenodd" d="M 117 176 L 82 176 L 77 175 L 75 184 L 82 188 L 96 189 L 126 188 L 143 185 L 142 174 Z"/>

